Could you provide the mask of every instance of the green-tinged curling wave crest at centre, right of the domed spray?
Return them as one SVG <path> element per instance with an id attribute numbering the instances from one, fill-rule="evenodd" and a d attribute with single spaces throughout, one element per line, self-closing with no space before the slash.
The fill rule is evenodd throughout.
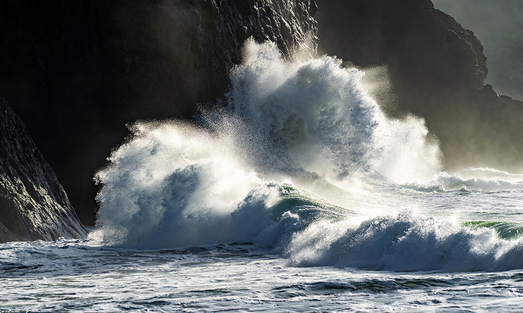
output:
<path id="1" fill-rule="evenodd" d="M 302 191 L 294 186 L 280 185 L 280 199 L 270 208 L 278 220 L 284 213 L 294 213 L 300 216 L 304 226 L 317 219 L 337 220 L 351 212 L 329 203 L 327 200 Z"/>

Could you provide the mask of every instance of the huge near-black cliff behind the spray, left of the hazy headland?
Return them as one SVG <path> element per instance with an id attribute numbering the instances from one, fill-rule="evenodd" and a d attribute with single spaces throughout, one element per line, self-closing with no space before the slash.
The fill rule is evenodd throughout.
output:
<path id="1" fill-rule="evenodd" d="M 86 225 L 95 171 L 135 119 L 223 95 L 243 41 L 317 43 L 314 0 L 0 2 L 0 93 Z"/>

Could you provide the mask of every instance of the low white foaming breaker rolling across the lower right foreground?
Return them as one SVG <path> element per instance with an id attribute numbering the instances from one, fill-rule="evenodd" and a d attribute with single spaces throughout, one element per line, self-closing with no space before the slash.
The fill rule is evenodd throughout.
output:
<path id="1" fill-rule="evenodd" d="M 523 240 L 494 229 L 471 230 L 449 220 L 401 211 L 364 220 L 321 221 L 295 234 L 293 265 L 373 270 L 504 271 L 523 267 Z"/>

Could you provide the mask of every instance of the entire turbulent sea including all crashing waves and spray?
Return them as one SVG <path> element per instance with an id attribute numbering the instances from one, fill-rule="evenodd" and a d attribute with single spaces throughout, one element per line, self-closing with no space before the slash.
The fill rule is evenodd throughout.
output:
<path id="1" fill-rule="evenodd" d="M 88 238 L 0 244 L 0 310 L 523 310 L 523 175 L 447 170 L 363 75 L 248 41 L 194 121 L 130 126 Z"/>

